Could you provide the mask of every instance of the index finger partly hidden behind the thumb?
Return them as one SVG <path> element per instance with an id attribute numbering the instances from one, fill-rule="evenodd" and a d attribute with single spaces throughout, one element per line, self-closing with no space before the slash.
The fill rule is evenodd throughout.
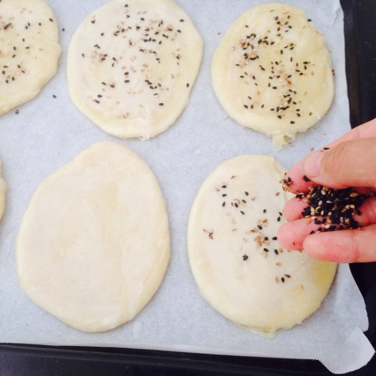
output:
<path id="1" fill-rule="evenodd" d="M 356 140 L 360 138 L 376 137 L 376 119 L 368 121 L 362 125 L 350 130 L 342 137 L 339 137 L 335 141 L 329 143 L 327 147 L 332 148 L 343 141 Z M 314 185 L 314 182 L 306 182 L 303 177 L 302 161 L 296 163 L 287 173 L 287 177 L 290 177 L 292 184 L 289 185 L 288 191 L 297 194 L 299 192 L 307 192 L 308 187 Z"/>

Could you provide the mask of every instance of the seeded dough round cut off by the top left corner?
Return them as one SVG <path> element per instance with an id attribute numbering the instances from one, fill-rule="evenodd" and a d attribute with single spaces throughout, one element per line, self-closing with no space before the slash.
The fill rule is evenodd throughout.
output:
<path id="1" fill-rule="evenodd" d="M 0 2 L 0 114 L 36 97 L 61 54 L 57 22 L 45 0 Z"/>

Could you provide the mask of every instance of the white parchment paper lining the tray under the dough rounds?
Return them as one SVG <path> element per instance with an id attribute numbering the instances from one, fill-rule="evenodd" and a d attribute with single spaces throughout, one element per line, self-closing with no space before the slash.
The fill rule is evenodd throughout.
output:
<path id="1" fill-rule="evenodd" d="M 368 326 L 365 306 L 347 265 L 339 267 L 329 295 L 315 314 L 302 325 L 265 339 L 238 328 L 204 301 L 190 271 L 185 239 L 195 195 L 218 164 L 240 154 L 265 153 L 276 156 L 288 168 L 311 147 L 317 149 L 350 129 L 339 1 L 286 0 L 302 8 L 316 29 L 324 33 L 335 69 L 336 94 L 322 121 L 281 152 L 276 152 L 263 134 L 225 119 L 226 113 L 210 83 L 211 58 L 228 27 L 250 7 L 266 2 L 176 2 L 204 39 L 203 64 L 190 105 L 176 123 L 159 136 L 141 142 L 119 140 L 102 132 L 75 108 L 68 95 L 65 72 L 71 36 L 81 21 L 106 0 L 49 0 L 59 22 L 63 48 L 58 73 L 36 99 L 19 108 L 18 115 L 11 111 L 0 118 L 0 159 L 10 186 L 0 224 L 0 342 L 315 358 L 336 373 L 364 365 L 374 351 L 362 333 Z M 14 250 L 23 213 L 39 183 L 101 140 L 126 145 L 141 155 L 156 174 L 168 207 L 171 260 L 159 290 L 132 322 L 109 332 L 87 334 L 60 322 L 22 292 Z"/>

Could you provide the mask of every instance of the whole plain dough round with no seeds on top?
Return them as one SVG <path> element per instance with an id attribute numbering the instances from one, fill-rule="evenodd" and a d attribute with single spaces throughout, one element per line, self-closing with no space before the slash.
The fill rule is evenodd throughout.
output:
<path id="1" fill-rule="evenodd" d="M 22 289 L 48 312 L 86 331 L 135 317 L 169 260 L 165 202 L 137 154 L 100 142 L 38 187 L 17 239 Z"/>

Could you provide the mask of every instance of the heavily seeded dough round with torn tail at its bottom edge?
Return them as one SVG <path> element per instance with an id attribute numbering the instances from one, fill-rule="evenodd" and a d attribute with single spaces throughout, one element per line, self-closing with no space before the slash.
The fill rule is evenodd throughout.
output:
<path id="1" fill-rule="evenodd" d="M 334 96 L 329 52 L 303 11 L 265 4 L 228 30 L 212 62 L 212 84 L 227 113 L 281 149 L 315 125 Z"/>

